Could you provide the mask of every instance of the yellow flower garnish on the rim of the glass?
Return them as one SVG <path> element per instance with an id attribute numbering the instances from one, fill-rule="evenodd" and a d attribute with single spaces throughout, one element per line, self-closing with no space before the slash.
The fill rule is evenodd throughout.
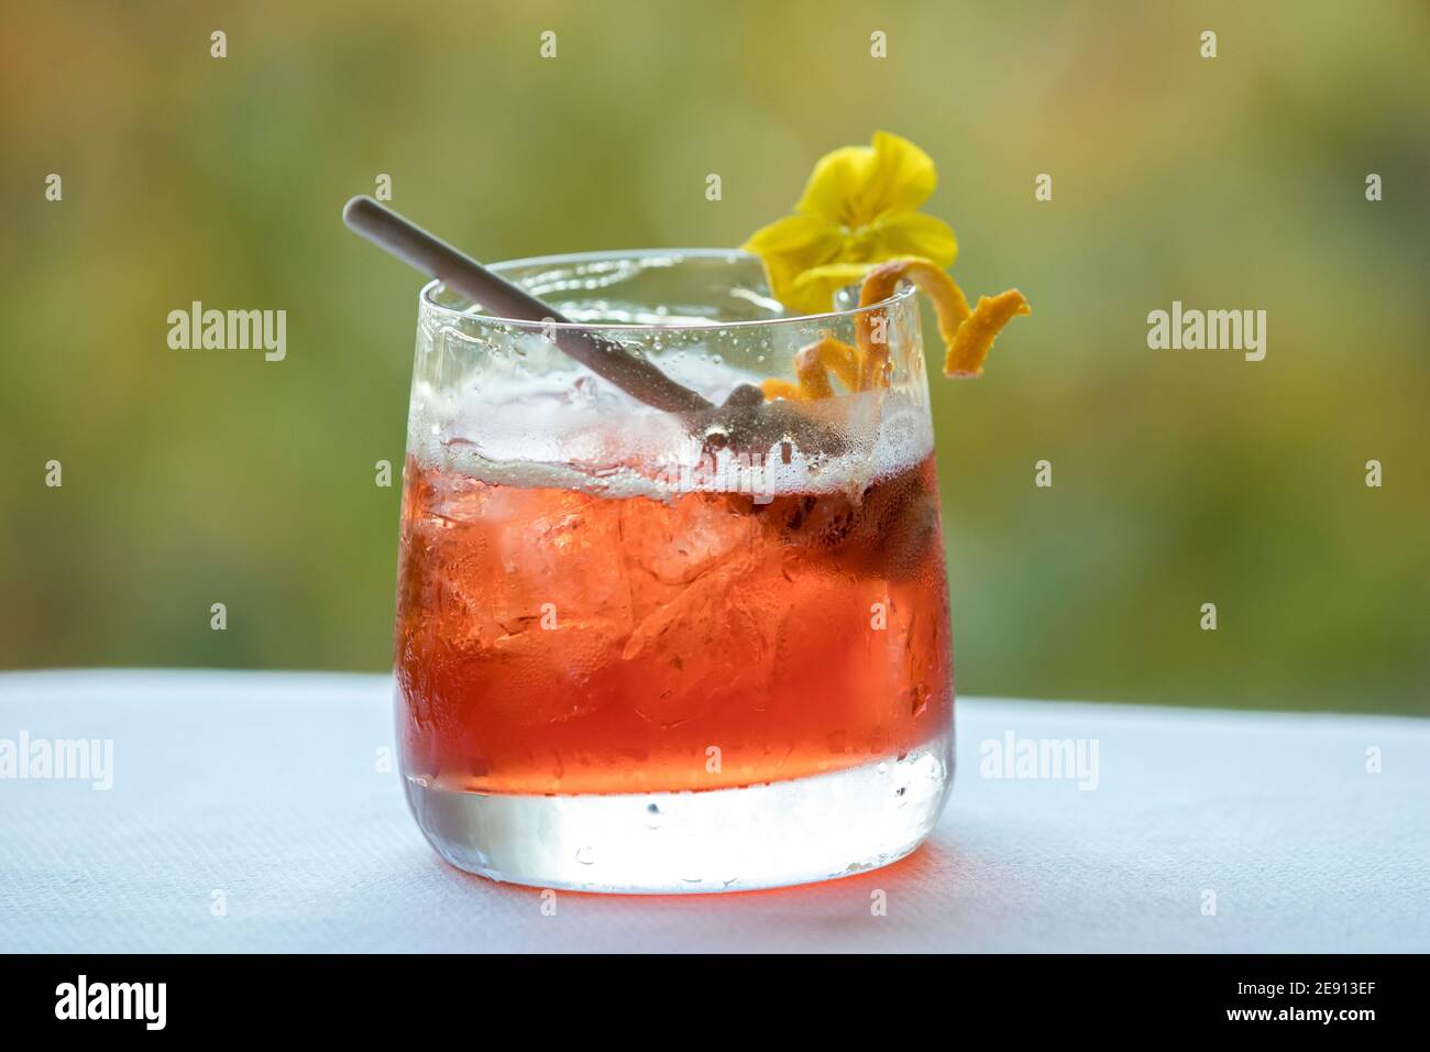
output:
<path id="1" fill-rule="evenodd" d="M 875 132 L 872 146 L 844 146 L 819 157 L 795 205 L 742 249 L 765 265 L 769 291 L 789 311 L 834 309 L 834 293 L 877 263 L 918 256 L 940 269 L 958 255 L 954 232 L 918 212 L 934 192 L 934 160 L 908 139 Z"/>

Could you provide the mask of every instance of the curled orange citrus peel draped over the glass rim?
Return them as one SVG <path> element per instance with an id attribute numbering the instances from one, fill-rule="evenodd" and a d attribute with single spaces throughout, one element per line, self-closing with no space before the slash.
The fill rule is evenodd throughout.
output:
<path id="1" fill-rule="evenodd" d="M 935 263 L 918 256 L 891 259 L 869 271 L 859 289 L 859 306 L 882 303 L 894 295 L 901 281 L 911 282 L 934 301 L 938 315 L 938 335 L 944 339 L 944 375 L 977 376 L 992 349 L 992 342 L 1018 315 L 1032 313 L 1028 301 L 1017 289 L 997 296 L 980 296 L 978 306 L 968 309 L 968 299 L 958 283 Z M 888 386 L 888 313 L 861 309 L 854 319 L 854 342 L 824 335 L 795 355 L 795 384 L 766 379 L 761 388 L 765 398 L 785 398 L 808 402 L 832 398 L 829 372 L 851 392 Z"/>

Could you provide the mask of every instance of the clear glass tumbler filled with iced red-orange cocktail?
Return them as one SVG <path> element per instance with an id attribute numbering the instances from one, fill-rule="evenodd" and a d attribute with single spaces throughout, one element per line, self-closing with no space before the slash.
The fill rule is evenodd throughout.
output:
<path id="1" fill-rule="evenodd" d="M 954 703 L 914 291 L 788 318 L 738 252 L 493 269 L 569 325 L 420 295 L 395 661 L 426 837 L 472 873 L 605 892 L 771 887 L 914 850 L 948 793 Z M 871 323 L 887 382 L 729 408 Z M 561 351 L 573 326 L 712 408 L 636 401 Z"/>

